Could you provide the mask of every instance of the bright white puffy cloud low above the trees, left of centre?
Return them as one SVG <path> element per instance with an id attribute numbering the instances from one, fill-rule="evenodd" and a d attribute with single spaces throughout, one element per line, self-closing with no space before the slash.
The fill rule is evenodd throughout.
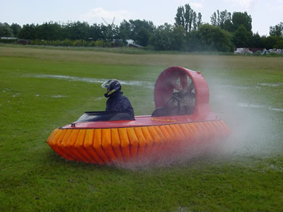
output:
<path id="1" fill-rule="evenodd" d="M 106 11 L 101 7 L 93 8 L 87 13 L 80 15 L 81 20 L 90 21 L 90 22 L 103 22 L 103 19 L 111 23 L 115 17 L 115 22 L 121 22 L 124 19 L 129 19 L 131 13 L 129 11 L 120 10 L 120 11 Z M 103 18 L 103 19 L 102 19 Z"/>

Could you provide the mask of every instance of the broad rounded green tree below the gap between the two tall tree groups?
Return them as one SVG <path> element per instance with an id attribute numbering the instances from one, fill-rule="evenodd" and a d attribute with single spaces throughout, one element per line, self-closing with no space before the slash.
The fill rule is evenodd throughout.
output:
<path id="1" fill-rule="evenodd" d="M 197 31 L 201 49 L 219 52 L 231 52 L 233 44 L 232 35 L 218 26 L 204 24 Z"/>

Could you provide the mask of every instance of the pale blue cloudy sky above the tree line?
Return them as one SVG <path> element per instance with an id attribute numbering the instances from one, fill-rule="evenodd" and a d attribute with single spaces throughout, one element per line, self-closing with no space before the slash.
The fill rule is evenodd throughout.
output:
<path id="1" fill-rule="evenodd" d="M 154 25 L 175 22 L 178 6 L 190 4 L 197 13 L 202 13 L 202 22 L 210 23 L 210 16 L 217 9 L 247 11 L 252 17 L 253 33 L 269 35 L 270 26 L 283 22 L 283 0 L 0 0 L 0 22 L 42 24 L 53 21 L 86 21 L 120 25 L 122 20 L 151 20 Z M 104 22 L 104 20 L 105 22 Z"/>

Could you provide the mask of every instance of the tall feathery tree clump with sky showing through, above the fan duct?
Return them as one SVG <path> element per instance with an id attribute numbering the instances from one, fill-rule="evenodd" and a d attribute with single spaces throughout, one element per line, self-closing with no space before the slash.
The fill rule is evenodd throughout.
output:
<path id="1" fill-rule="evenodd" d="M 195 13 L 190 4 L 179 6 L 175 16 L 175 26 L 182 26 L 186 32 L 197 30 L 202 23 L 202 14 Z"/>

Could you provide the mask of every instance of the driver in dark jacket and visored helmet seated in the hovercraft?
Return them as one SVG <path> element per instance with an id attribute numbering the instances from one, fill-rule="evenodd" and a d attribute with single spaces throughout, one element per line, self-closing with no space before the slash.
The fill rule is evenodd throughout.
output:
<path id="1" fill-rule="evenodd" d="M 132 119 L 134 119 L 134 109 L 132 108 L 129 99 L 123 95 L 121 84 L 116 79 L 110 79 L 105 81 L 102 88 L 106 88 L 105 98 L 108 98 L 106 102 L 105 111 L 108 112 L 127 112 Z"/>

